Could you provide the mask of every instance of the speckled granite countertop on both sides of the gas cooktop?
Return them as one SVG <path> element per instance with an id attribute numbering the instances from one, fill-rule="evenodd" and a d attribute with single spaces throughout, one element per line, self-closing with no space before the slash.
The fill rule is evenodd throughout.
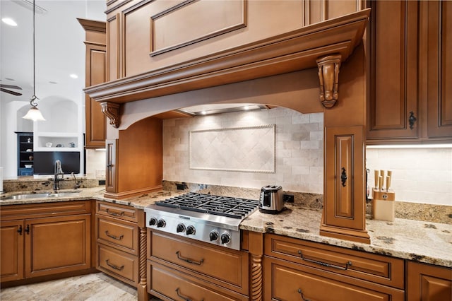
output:
<path id="1" fill-rule="evenodd" d="M 60 192 L 64 191 L 66 190 L 63 189 Z M 36 192 L 40 193 L 42 191 Z M 186 193 L 186 191 L 162 190 L 133 196 L 129 199 L 116 200 L 105 198 L 105 187 L 92 187 L 83 188 L 80 194 L 73 196 L 20 200 L 4 199 L 7 196 L 21 193 L 23 192 L 1 195 L 0 206 L 95 199 L 143 209 L 145 206 L 155 203 L 155 201 L 178 196 Z M 255 211 L 242 221 L 240 228 L 242 230 L 274 233 L 348 249 L 452 267 L 452 225 L 401 218 L 396 218 L 394 222 L 367 218 L 366 228 L 371 237 L 371 243 L 364 244 L 321 236 L 319 232 L 322 211 L 319 209 L 306 208 L 290 203 L 286 203 L 285 207 L 285 211 L 275 215 Z"/>

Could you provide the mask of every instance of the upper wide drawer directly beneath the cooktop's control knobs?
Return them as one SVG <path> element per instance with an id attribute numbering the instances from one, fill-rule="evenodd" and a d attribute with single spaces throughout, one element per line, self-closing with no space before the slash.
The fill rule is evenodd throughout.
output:
<path id="1" fill-rule="evenodd" d="M 186 271 L 187 273 L 244 295 L 248 294 L 248 253 L 210 246 L 157 231 L 149 231 L 148 235 L 148 240 L 152 241 L 150 259 L 160 259 L 160 263 L 169 262 L 188 268 L 190 271 Z"/>

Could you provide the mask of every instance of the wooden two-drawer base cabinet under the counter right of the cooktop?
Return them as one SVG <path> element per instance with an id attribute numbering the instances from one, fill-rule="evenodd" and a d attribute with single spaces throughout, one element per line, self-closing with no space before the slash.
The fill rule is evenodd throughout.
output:
<path id="1" fill-rule="evenodd" d="M 403 259 L 278 235 L 264 250 L 264 300 L 405 300 Z"/>

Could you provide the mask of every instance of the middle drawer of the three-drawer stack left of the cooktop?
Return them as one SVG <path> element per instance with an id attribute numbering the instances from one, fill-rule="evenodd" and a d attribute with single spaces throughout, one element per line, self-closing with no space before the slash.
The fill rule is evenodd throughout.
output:
<path id="1" fill-rule="evenodd" d="M 138 225 L 136 223 L 96 216 L 97 242 L 138 255 Z"/>

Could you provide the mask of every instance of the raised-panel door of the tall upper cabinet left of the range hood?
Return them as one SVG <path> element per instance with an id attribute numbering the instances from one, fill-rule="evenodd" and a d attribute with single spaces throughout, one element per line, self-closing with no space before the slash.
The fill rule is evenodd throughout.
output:
<path id="1" fill-rule="evenodd" d="M 105 83 L 106 54 L 105 46 L 88 45 L 86 47 L 86 86 Z M 102 113 L 100 102 L 96 102 L 88 95 L 85 96 L 85 117 L 86 117 L 86 148 L 105 147 L 107 136 L 107 122 Z"/>

